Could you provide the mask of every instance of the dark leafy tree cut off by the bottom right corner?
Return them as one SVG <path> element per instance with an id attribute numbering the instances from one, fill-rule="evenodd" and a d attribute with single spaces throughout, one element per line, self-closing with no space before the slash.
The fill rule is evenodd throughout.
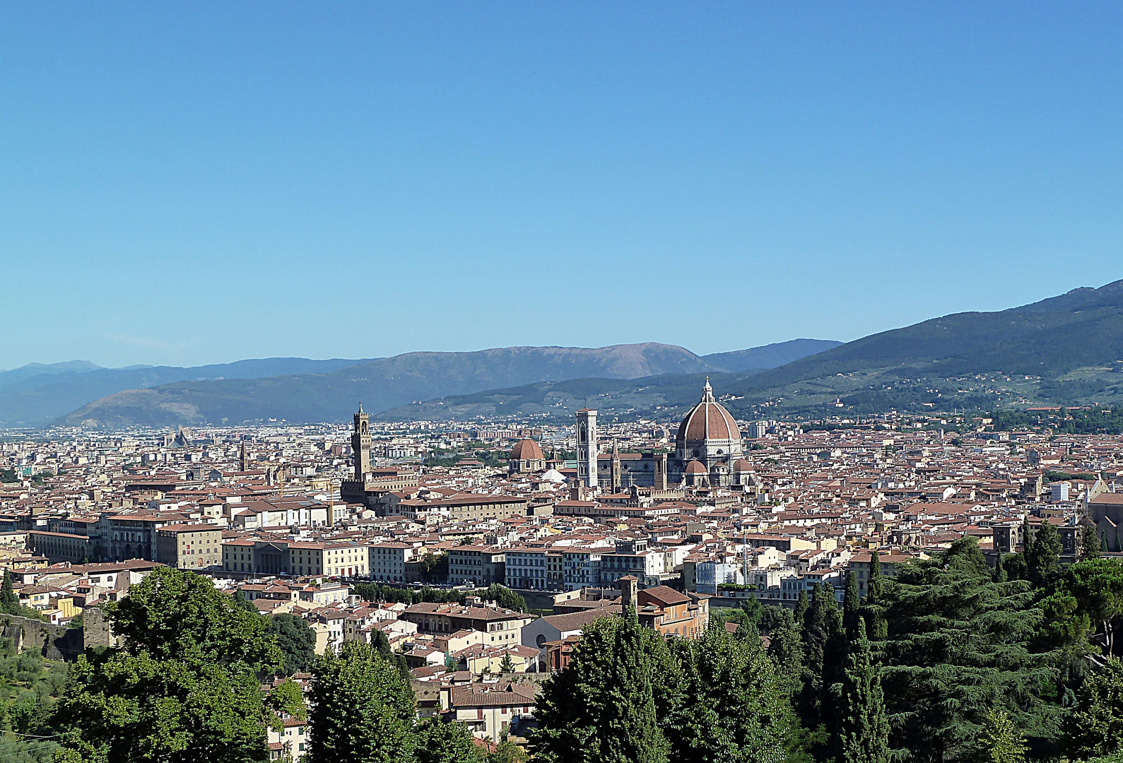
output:
<path id="1" fill-rule="evenodd" d="M 1075 759 L 1123 753 L 1123 663 L 1117 658 L 1088 675 L 1066 730 Z"/>

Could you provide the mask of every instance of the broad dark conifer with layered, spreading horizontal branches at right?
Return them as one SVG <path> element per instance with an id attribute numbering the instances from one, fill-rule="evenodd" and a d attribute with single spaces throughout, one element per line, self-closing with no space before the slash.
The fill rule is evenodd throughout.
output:
<path id="1" fill-rule="evenodd" d="M 887 637 L 874 644 L 893 746 L 909 760 L 969 756 L 986 713 L 1006 710 L 1035 746 L 1062 737 L 1056 651 L 1033 651 L 1044 620 L 1024 580 L 996 583 L 974 539 L 898 567 L 886 590 Z"/>

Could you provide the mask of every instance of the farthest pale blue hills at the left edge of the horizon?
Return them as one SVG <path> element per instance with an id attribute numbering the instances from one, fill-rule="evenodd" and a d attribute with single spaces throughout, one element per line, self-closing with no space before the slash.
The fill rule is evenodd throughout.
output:
<path id="1" fill-rule="evenodd" d="M 331 371 L 359 360 L 335 358 L 262 358 L 177 368 L 135 366 L 101 368 L 86 360 L 30 364 L 0 374 L 0 425 L 39 426 L 106 395 L 189 379 L 256 378 L 280 374 Z"/>

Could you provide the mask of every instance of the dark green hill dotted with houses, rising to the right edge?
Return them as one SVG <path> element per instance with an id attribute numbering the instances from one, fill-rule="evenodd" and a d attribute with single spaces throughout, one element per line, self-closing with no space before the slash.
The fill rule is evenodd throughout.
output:
<path id="1" fill-rule="evenodd" d="M 737 353 L 723 353 L 737 355 Z M 707 358 L 713 356 L 707 356 Z M 1123 281 L 990 313 L 956 313 L 864 337 L 786 365 L 713 376 L 743 419 L 1005 405 L 1123 404 Z M 387 420 L 553 414 L 587 403 L 602 415 L 673 419 L 700 375 L 575 379 L 482 390 L 392 408 Z M 768 404 L 767 408 L 760 407 Z"/>

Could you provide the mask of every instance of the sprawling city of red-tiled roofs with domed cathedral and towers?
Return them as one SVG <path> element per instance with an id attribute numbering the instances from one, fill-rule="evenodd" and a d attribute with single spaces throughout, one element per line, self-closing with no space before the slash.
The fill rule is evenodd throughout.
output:
<path id="1" fill-rule="evenodd" d="M 992 566 L 1046 523 L 1076 561 L 1121 552 L 1123 440 L 994 431 L 985 417 L 736 421 L 706 383 L 679 422 L 380 424 L 12 434 L 0 563 L 71 650 L 159 566 L 203 573 L 318 653 L 386 643 L 422 717 L 520 738 L 540 677 L 633 604 L 694 638 L 746 599 L 842 601 L 966 535 Z M 73 637 L 70 638 L 74 641 Z M 55 646 L 64 653 L 66 640 Z M 296 673 L 307 681 L 307 674 Z M 299 760 L 302 720 L 270 732 Z"/>

